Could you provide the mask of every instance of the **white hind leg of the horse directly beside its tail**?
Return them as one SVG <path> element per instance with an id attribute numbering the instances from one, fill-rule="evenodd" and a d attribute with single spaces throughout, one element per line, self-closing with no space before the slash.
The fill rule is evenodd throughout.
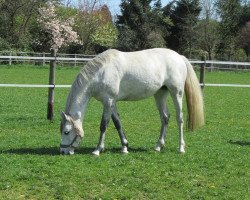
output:
<path id="1" fill-rule="evenodd" d="M 179 152 L 185 153 L 185 142 L 183 136 L 183 112 L 182 112 L 182 98 L 183 90 L 171 90 L 171 95 L 174 101 L 175 110 L 176 110 L 176 120 L 179 127 Z"/>

